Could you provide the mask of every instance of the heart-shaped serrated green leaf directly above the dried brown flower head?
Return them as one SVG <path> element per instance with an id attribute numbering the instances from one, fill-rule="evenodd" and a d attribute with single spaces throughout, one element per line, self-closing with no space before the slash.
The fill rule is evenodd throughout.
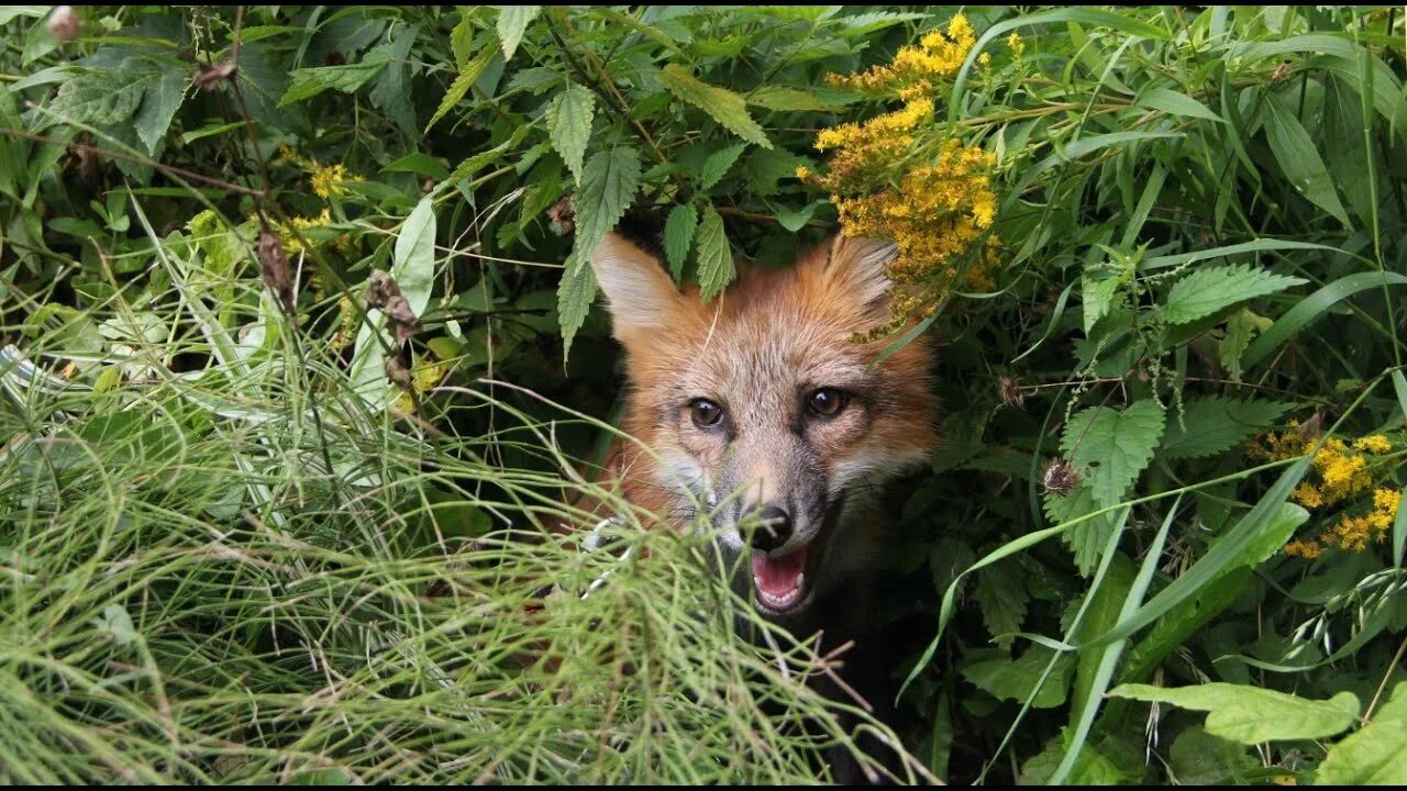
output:
<path id="1" fill-rule="evenodd" d="M 1061 450 L 1088 479 L 1095 502 L 1107 508 L 1123 500 L 1152 460 L 1162 428 L 1164 410 L 1152 398 L 1135 401 L 1123 412 L 1090 407 L 1065 425 Z"/>

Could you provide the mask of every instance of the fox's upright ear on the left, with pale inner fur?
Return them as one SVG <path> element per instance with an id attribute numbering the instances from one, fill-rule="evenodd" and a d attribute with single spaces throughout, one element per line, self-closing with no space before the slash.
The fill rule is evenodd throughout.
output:
<path id="1" fill-rule="evenodd" d="M 680 290 L 660 260 L 619 234 L 606 234 L 591 253 L 597 281 L 611 303 L 616 338 L 632 331 L 663 329 L 677 318 Z"/>

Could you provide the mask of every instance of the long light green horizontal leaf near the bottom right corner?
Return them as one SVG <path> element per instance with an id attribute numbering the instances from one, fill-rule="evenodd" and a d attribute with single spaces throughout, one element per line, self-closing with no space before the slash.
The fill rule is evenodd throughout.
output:
<path id="1" fill-rule="evenodd" d="M 1150 687 L 1121 684 L 1110 697 L 1165 702 L 1192 711 L 1206 711 L 1207 733 L 1240 745 L 1285 739 L 1323 739 L 1352 728 L 1362 705 L 1352 692 L 1316 701 L 1241 684 L 1196 687 Z"/>

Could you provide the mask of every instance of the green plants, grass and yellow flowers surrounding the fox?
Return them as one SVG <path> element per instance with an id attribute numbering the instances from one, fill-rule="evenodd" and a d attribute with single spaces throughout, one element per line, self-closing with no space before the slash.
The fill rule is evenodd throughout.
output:
<path id="1" fill-rule="evenodd" d="M 0 25 L 0 780 L 1407 783 L 1400 8 Z M 628 211 L 900 242 L 893 730 L 577 474 Z"/>

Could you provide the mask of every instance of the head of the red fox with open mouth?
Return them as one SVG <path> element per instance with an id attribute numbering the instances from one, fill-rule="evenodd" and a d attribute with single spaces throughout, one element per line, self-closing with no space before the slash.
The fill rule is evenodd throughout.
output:
<path id="1" fill-rule="evenodd" d="M 625 455 L 626 495 L 681 526 L 705 508 L 775 619 L 865 564 L 865 536 L 846 532 L 867 526 L 843 511 L 934 439 L 924 341 L 878 365 L 892 338 L 855 341 L 892 318 L 892 258 L 836 236 L 794 267 L 743 267 L 709 304 L 623 236 L 591 258 L 626 350 L 623 428 L 654 452 Z"/>

